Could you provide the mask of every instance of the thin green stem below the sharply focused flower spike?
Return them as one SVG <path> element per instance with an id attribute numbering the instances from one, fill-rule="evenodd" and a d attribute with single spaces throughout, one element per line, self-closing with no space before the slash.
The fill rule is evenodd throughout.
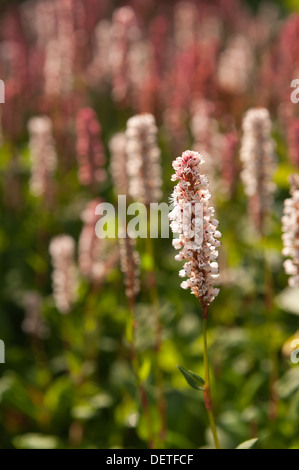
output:
<path id="1" fill-rule="evenodd" d="M 217 430 L 215 425 L 212 396 L 211 396 L 211 383 L 210 383 L 210 372 L 209 372 L 209 358 L 208 358 L 208 345 L 207 345 L 207 321 L 208 321 L 208 308 L 203 310 L 203 351 L 204 351 L 204 369 L 205 369 L 205 390 L 204 390 L 204 401 L 205 407 L 208 412 L 210 426 L 214 438 L 216 449 L 220 449 L 220 444 L 217 436 Z"/>

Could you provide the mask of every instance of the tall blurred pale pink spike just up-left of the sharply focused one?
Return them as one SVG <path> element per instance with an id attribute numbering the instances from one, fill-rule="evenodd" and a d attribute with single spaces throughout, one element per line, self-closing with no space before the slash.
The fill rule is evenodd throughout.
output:
<path id="1" fill-rule="evenodd" d="M 127 172 L 129 194 L 144 204 L 161 198 L 160 149 L 157 126 L 151 114 L 133 116 L 127 122 Z"/>

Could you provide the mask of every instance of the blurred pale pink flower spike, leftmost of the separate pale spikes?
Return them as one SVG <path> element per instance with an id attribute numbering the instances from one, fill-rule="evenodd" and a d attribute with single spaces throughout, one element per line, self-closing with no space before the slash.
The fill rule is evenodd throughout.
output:
<path id="1" fill-rule="evenodd" d="M 51 198 L 57 156 L 52 136 L 52 122 L 47 116 L 33 117 L 28 123 L 31 157 L 30 189 L 36 196 Z"/>

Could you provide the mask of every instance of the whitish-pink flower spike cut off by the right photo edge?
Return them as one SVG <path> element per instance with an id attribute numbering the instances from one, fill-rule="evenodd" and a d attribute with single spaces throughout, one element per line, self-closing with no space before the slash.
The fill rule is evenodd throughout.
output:
<path id="1" fill-rule="evenodd" d="M 282 217 L 282 254 L 289 259 L 285 260 L 284 268 L 290 276 L 289 285 L 299 286 L 299 174 L 290 176 L 291 197 L 284 202 Z"/>

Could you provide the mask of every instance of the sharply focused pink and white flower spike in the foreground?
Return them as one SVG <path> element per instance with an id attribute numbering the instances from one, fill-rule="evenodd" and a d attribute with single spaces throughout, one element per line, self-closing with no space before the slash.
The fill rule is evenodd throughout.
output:
<path id="1" fill-rule="evenodd" d="M 206 308 L 219 292 L 214 286 L 219 278 L 217 249 L 221 233 L 209 202 L 209 183 L 201 173 L 202 164 L 202 156 L 190 150 L 174 160 L 172 181 L 179 183 L 172 194 L 174 209 L 169 219 L 172 231 L 179 234 L 179 238 L 173 240 L 174 248 L 181 250 L 175 259 L 186 260 L 180 276 L 188 280 L 183 281 L 181 287 L 191 289 Z"/>

